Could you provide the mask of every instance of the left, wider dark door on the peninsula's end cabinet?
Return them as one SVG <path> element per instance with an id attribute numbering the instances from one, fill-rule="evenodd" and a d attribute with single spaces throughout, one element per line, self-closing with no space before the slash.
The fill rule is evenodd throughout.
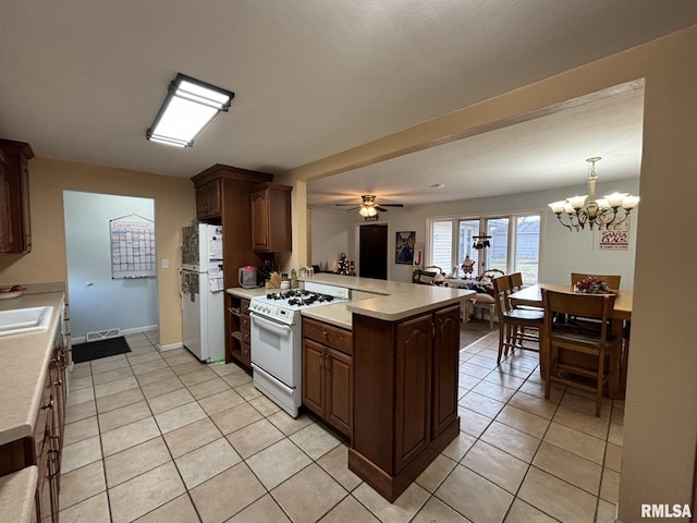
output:
<path id="1" fill-rule="evenodd" d="M 430 441 L 431 315 L 396 328 L 395 471 L 401 471 Z"/>

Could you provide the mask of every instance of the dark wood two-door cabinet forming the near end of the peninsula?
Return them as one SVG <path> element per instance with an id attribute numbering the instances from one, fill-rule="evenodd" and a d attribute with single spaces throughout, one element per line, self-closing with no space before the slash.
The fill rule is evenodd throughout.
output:
<path id="1" fill-rule="evenodd" d="M 460 433 L 460 305 L 399 321 L 353 315 L 348 469 L 393 502 Z"/>

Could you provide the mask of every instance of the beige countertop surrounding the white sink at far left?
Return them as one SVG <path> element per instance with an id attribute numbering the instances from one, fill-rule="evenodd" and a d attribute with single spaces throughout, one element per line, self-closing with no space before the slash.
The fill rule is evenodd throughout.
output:
<path id="1" fill-rule="evenodd" d="M 60 320 L 63 292 L 0 300 L 0 311 L 52 306 L 48 329 L 0 337 L 0 445 L 32 436 Z"/>

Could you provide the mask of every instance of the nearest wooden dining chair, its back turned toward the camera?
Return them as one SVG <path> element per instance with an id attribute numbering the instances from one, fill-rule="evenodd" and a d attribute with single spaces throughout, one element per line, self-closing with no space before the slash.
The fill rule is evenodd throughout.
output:
<path id="1" fill-rule="evenodd" d="M 542 289 L 543 331 L 549 348 L 546 399 L 549 399 L 552 381 L 588 390 L 596 394 L 596 416 L 600 416 L 602 388 L 609 376 L 609 354 L 611 350 L 620 350 L 620 339 L 611 333 L 609 325 L 614 299 L 614 294 Z M 580 321 L 563 321 L 567 316 Z M 553 321 L 555 317 L 558 321 Z"/>

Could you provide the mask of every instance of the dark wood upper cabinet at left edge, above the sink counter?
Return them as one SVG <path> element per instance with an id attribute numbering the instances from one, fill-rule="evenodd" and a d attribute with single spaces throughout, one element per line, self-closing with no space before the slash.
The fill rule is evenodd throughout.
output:
<path id="1" fill-rule="evenodd" d="M 0 166 L 0 254 L 26 254 L 32 251 L 29 215 L 29 160 L 34 151 L 29 144 L 0 139 L 5 160 Z M 0 163 L 2 163 L 0 159 Z"/>

